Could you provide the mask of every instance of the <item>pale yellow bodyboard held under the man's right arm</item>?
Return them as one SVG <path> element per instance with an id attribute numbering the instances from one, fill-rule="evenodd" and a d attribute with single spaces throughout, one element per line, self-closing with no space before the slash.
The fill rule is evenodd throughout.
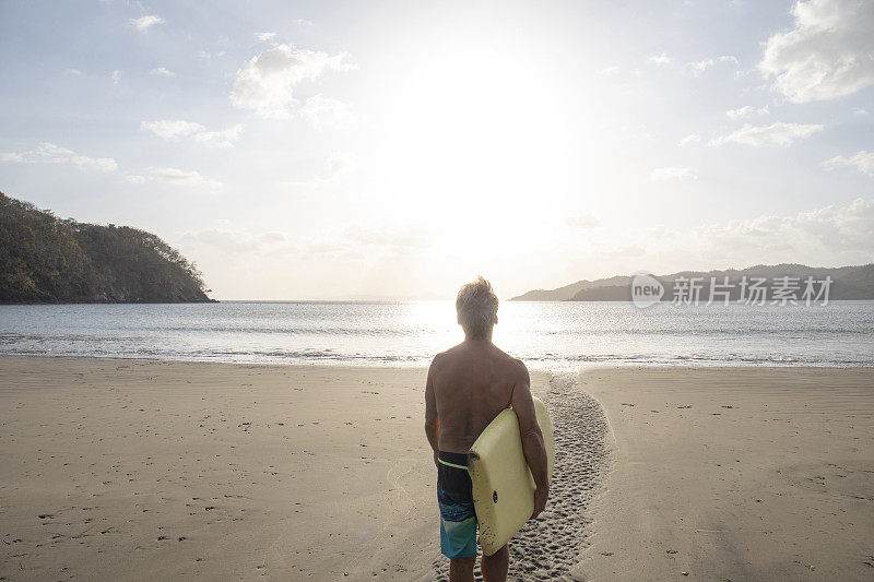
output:
<path id="1" fill-rule="evenodd" d="M 555 459 L 553 424 L 546 406 L 534 397 L 538 424 L 546 446 L 548 476 Z M 480 545 L 491 556 L 510 541 L 534 511 L 534 478 L 528 468 L 519 419 L 506 408 L 483 430 L 468 453 Z"/>

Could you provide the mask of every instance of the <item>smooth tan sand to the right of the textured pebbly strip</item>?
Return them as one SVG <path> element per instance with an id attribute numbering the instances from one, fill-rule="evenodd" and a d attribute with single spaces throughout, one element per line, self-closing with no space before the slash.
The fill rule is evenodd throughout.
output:
<path id="1" fill-rule="evenodd" d="M 576 578 L 874 580 L 874 369 L 595 369 L 580 383 L 616 450 Z"/>

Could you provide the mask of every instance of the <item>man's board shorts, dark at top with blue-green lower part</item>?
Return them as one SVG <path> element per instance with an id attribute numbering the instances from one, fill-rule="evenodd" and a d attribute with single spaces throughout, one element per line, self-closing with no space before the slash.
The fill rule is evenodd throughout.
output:
<path id="1" fill-rule="evenodd" d="M 476 513 L 468 455 L 440 451 L 437 461 L 437 504 L 440 507 L 440 551 L 447 558 L 476 556 Z"/>

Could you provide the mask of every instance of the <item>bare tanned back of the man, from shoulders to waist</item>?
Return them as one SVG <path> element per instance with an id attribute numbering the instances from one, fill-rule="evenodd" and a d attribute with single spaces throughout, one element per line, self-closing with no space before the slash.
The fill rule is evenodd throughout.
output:
<path id="1" fill-rule="evenodd" d="M 441 451 L 466 453 L 486 426 L 508 407 L 524 365 L 492 342 L 457 345 L 434 358 L 432 382 L 440 418 Z"/>

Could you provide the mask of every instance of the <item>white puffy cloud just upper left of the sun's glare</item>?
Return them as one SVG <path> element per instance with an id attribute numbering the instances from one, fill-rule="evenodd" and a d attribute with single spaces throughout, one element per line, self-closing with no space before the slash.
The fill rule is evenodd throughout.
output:
<path id="1" fill-rule="evenodd" d="M 304 50 L 275 45 L 244 64 L 234 79 L 231 103 L 260 117 L 290 118 L 297 100 L 294 90 L 302 81 L 318 79 L 326 69 L 355 69 L 345 52 Z"/>

